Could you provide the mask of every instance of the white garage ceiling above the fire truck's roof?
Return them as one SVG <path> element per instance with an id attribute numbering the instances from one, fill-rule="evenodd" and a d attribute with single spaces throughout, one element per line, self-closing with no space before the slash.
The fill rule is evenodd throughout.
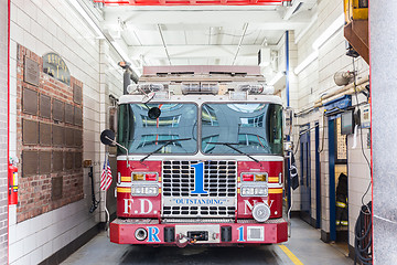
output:
<path id="1" fill-rule="evenodd" d="M 130 59 L 141 65 L 257 65 L 260 47 L 275 47 L 287 30 L 307 26 L 315 3 L 105 7 L 101 28 L 117 42 L 125 42 Z"/>

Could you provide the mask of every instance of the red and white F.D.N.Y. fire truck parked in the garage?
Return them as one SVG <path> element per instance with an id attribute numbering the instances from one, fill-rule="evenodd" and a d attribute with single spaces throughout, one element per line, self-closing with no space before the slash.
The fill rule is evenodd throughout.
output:
<path id="1" fill-rule="evenodd" d="M 259 67 L 144 68 L 105 136 L 118 146 L 110 241 L 287 241 L 282 106 L 267 89 Z"/>

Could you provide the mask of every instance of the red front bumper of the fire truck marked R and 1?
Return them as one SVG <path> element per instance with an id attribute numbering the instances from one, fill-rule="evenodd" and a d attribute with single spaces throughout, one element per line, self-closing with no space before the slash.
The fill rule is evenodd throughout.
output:
<path id="1" fill-rule="evenodd" d="M 136 231 L 147 236 L 139 241 Z M 276 244 L 288 240 L 288 223 L 272 219 L 265 223 L 237 220 L 237 223 L 159 223 L 149 219 L 116 219 L 110 223 L 110 242 L 118 244 L 179 245 Z"/>

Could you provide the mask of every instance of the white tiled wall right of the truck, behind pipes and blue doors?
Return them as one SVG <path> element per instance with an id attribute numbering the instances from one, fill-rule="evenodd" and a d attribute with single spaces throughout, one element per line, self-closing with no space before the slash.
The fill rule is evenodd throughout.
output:
<path id="1" fill-rule="evenodd" d="M 342 0 L 319 1 L 318 3 L 318 19 L 305 31 L 303 35 L 296 33 L 298 40 L 298 64 L 303 62 L 314 49 L 313 42 L 319 35 L 324 32 L 331 24 L 343 13 Z M 343 35 L 343 28 L 341 26 L 322 46 L 319 49 L 319 56 L 312 61 L 304 70 L 298 74 L 299 83 L 299 113 L 308 109 L 321 98 L 322 95 L 335 91 L 337 86 L 334 83 L 333 75 L 341 71 L 353 71 L 352 57 L 345 55 L 345 39 Z M 369 66 L 361 57 L 355 61 L 355 67 L 358 72 L 357 80 L 367 77 L 369 74 Z M 352 96 L 352 104 L 355 105 L 355 96 Z M 360 95 L 360 102 L 365 97 Z M 308 115 L 302 115 L 298 118 L 297 125 L 310 124 L 314 127 L 315 123 L 320 126 L 320 170 L 321 170 L 321 230 L 325 233 L 330 232 L 330 198 L 329 198 L 329 146 L 328 146 L 328 120 L 323 124 L 323 108 L 314 110 Z M 323 131 L 325 130 L 325 131 Z M 325 134 L 323 134 L 325 132 Z M 358 130 L 360 132 L 360 130 Z M 369 149 L 366 145 L 368 129 L 363 129 L 364 151 L 369 158 Z M 360 136 L 360 135 L 358 135 Z M 352 148 L 353 136 L 347 137 L 347 156 L 348 156 L 348 231 L 350 245 L 354 245 L 354 224 L 358 216 L 358 209 L 361 206 L 362 195 L 365 193 L 369 183 L 369 169 L 362 155 L 360 137 L 357 137 L 357 147 Z M 296 142 L 298 138 L 294 138 Z M 311 139 L 311 216 L 315 220 L 315 130 L 310 135 Z M 299 161 L 299 151 L 298 161 Z M 298 162 L 299 167 L 300 163 Z M 299 169 L 300 172 L 300 169 Z M 296 191 L 299 192 L 299 191 Z M 371 200 L 371 191 L 366 195 L 364 202 Z"/>

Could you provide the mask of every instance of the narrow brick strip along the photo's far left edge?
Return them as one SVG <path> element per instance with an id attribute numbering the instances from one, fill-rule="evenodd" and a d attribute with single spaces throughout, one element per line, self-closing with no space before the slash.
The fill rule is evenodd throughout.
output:
<path id="1" fill-rule="evenodd" d="M 8 119 L 8 1 L 0 2 L 0 264 L 8 254 L 8 181 L 7 181 L 7 119 Z"/>

